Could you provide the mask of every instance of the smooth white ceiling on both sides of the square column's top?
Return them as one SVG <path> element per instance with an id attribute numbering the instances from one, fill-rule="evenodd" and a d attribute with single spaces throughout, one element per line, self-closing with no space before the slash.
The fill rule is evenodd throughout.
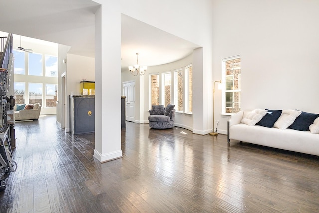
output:
<path id="1" fill-rule="evenodd" d="M 90 0 L 0 0 L 0 31 L 70 46 L 69 53 L 94 57 L 94 18 Z M 122 66 L 153 66 L 179 60 L 199 46 L 122 15 Z M 31 48 L 32 47 L 28 47 Z"/>

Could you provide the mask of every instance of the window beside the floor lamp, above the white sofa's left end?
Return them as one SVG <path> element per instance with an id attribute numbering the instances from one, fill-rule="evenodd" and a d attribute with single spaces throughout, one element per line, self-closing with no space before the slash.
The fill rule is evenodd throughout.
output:
<path id="1" fill-rule="evenodd" d="M 241 110 L 241 66 L 240 55 L 222 60 L 223 81 L 223 113 L 237 113 Z"/>

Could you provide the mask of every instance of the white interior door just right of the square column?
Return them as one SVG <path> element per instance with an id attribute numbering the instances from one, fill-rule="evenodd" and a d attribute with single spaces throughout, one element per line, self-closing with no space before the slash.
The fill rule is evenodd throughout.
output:
<path id="1" fill-rule="evenodd" d="M 135 82 L 123 83 L 125 98 L 125 120 L 135 121 Z"/>

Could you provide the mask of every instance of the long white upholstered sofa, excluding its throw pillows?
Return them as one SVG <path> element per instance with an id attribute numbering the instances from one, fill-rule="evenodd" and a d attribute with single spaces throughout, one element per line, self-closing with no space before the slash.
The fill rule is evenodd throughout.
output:
<path id="1" fill-rule="evenodd" d="M 234 139 L 278 149 L 319 155 L 318 133 L 242 123 L 243 118 L 245 118 L 249 112 L 251 111 L 240 111 L 231 116 L 227 124 L 228 143 L 230 143 L 231 139 Z M 318 121 L 319 117 L 314 121 L 317 122 L 317 129 Z M 313 124 L 313 126 L 315 126 L 315 124 Z"/>

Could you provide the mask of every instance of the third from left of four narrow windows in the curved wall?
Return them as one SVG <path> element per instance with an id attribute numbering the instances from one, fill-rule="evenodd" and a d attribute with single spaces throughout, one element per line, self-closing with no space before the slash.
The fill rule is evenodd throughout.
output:
<path id="1" fill-rule="evenodd" d="M 183 111 L 183 70 L 174 71 L 174 104 L 177 112 Z"/>

